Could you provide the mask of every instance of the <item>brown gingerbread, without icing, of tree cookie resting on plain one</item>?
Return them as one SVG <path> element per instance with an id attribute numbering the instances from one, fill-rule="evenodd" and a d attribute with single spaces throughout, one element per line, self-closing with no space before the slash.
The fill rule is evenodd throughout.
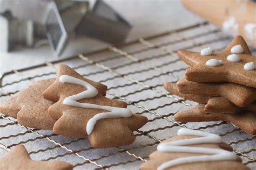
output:
<path id="1" fill-rule="evenodd" d="M 52 100 L 57 103 L 49 108 L 49 114 L 57 119 L 53 126 L 53 131 L 57 134 L 74 137 L 74 138 L 89 138 L 93 147 L 112 147 L 122 146 L 133 143 L 135 136 L 132 131 L 141 128 L 147 118 L 140 115 L 132 114 L 127 118 L 104 118 L 99 119 L 89 136 L 86 132 L 87 122 L 95 115 L 106 112 L 103 109 L 91 109 L 74 107 L 63 104 L 66 97 L 79 94 L 86 90 L 84 86 L 73 83 L 63 83 L 59 81 L 59 77 L 68 75 L 83 80 L 98 90 L 98 94 L 92 98 L 83 98 L 79 103 L 91 103 L 97 105 L 106 105 L 110 107 L 126 108 L 127 104 L 122 101 L 111 100 L 106 98 L 107 87 L 98 82 L 85 79 L 83 76 L 75 72 L 66 65 L 60 65 L 57 70 L 56 81 L 47 88 L 43 95 L 47 100 Z"/>

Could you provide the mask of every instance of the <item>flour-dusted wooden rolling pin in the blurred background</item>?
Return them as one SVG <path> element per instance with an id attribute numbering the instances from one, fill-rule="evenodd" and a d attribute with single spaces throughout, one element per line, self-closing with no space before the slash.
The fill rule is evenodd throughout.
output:
<path id="1" fill-rule="evenodd" d="M 181 0 L 184 6 L 232 36 L 240 34 L 256 47 L 256 2 Z"/>

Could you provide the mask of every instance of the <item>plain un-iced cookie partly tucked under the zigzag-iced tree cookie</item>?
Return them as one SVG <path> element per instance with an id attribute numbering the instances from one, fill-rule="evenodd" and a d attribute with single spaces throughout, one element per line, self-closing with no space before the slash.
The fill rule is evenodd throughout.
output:
<path id="1" fill-rule="evenodd" d="M 48 108 L 53 102 L 45 100 L 43 91 L 55 79 L 41 80 L 28 89 L 21 90 L 8 100 L 0 103 L 2 114 L 17 118 L 19 124 L 36 129 L 52 129 L 56 119 L 48 115 Z"/>

